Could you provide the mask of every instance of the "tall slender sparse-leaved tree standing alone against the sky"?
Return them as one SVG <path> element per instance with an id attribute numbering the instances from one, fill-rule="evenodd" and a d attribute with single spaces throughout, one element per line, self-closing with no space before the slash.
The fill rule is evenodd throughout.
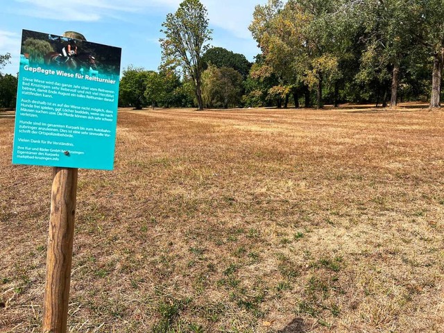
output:
<path id="1" fill-rule="evenodd" d="M 165 34 L 160 39 L 162 60 L 167 65 L 180 66 L 191 77 L 199 110 L 203 110 L 201 75 L 202 56 L 207 51 L 212 31 L 208 28 L 207 9 L 199 0 L 185 0 L 178 10 L 167 15 L 162 24 Z"/>

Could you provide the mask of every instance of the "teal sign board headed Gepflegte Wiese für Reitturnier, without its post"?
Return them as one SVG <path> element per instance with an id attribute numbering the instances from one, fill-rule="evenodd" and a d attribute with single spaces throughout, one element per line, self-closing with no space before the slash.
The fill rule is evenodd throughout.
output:
<path id="1" fill-rule="evenodd" d="M 23 31 L 13 164 L 112 170 L 121 49 Z"/>

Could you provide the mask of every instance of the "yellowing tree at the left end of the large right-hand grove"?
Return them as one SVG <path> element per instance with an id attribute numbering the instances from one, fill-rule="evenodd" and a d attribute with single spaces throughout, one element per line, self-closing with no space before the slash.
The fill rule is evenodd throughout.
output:
<path id="1" fill-rule="evenodd" d="M 298 89 L 300 83 L 316 88 L 322 107 L 323 82 L 338 76 L 339 58 L 334 53 L 332 12 L 336 1 L 269 0 L 256 6 L 250 31 L 279 80 L 273 92 Z"/>

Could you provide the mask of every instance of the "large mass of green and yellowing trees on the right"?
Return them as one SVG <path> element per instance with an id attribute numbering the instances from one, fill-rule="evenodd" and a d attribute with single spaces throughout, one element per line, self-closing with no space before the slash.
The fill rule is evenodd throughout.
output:
<path id="1" fill-rule="evenodd" d="M 253 73 L 273 73 L 277 82 L 268 97 L 275 96 L 278 105 L 279 98 L 293 93 L 297 101 L 304 91 L 307 104 L 309 87 L 316 91 L 318 108 L 324 94 L 335 105 L 339 99 L 385 105 L 391 97 L 395 106 L 398 95 L 418 98 L 430 90 L 436 107 L 444 67 L 443 17 L 444 0 L 268 0 L 255 7 L 250 24 L 264 57 Z M 427 66 L 432 89 L 425 85 Z"/>

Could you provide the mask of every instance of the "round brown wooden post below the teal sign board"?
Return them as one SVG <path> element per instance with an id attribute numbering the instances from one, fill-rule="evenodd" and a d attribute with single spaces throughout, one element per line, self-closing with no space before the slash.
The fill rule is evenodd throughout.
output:
<path id="1" fill-rule="evenodd" d="M 53 168 L 42 329 L 67 332 L 78 169 Z"/>

